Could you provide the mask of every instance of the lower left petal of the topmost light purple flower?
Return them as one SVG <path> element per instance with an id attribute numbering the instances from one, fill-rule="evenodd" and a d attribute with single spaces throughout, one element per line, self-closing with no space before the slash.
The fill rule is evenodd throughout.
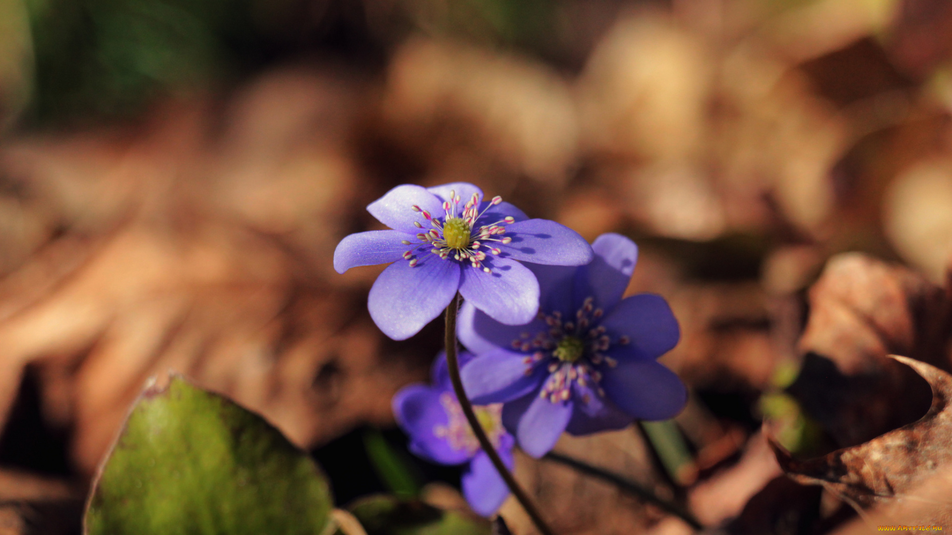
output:
<path id="1" fill-rule="evenodd" d="M 435 254 L 409 262 L 390 264 L 374 281 L 367 298 L 373 322 L 394 340 L 406 340 L 420 332 L 449 305 L 460 287 L 459 264 Z"/>

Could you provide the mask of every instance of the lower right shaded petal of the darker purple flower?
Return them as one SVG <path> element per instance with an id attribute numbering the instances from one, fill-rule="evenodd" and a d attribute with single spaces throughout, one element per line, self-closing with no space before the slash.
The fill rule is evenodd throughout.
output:
<path id="1" fill-rule="evenodd" d="M 652 358 L 620 360 L 616 367 L 602 367 L 602 373 L 608 400 L 632 418 L 666 420 L 687 403 L 681 379 Z"/>

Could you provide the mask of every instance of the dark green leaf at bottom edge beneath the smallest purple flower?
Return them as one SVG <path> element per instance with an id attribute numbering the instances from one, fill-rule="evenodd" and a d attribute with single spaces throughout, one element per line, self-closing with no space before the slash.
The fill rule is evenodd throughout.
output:
<path id="1" fill-rule="evenodd" d="M 367 535 L 488 535 L 489 523 L 418 501 L 375 495 L 349 507 Z"/>

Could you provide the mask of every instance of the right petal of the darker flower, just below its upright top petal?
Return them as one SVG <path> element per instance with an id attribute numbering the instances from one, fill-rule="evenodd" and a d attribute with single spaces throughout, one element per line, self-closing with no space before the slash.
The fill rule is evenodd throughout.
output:
<path id="1" fill-rule="evenodd" d="M 660 357 L 677 346 L 681 338 L 671 307 L 664 297 L 653 293 L 626 297 L 608 311 L 602 326 L 609 335 L 627 336 L 631 347 L 645 357 Z"/>

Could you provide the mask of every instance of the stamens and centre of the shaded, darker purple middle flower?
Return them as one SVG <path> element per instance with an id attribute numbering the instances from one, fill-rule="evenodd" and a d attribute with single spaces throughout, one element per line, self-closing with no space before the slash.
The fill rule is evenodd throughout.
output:
<path id="1" fill-rule="evenodd" d="M 599 396 L 605 391 L 599 386 L 602 373 L 595 366 L 616 367 L 618 362 L 605 351 L 618 344 L 625 346 L 630 341 L 621 336 L 614 342 L 605 334 L 605 327 L 597 326 L 605 310 L 593 306 L 594 298 L 588 297 L 575 312 L 574 318 L 563 318 L 558 310 L 551 314 L 539 312 L 539 318 L 545 321 L 547 330 L 541 330 L 532 336 L 523 332 L 512 341 L 512 348 L 531 355 L 523 359 L 526 375 L 531 375 L 539 363 L 545 361 L 549 376 L 539 392 L 539 397 L 548 398 L 552 403 L 564 402 L 571 397 L 573 383 L 590 386 Z M 587 404 L 591 400 L 587 393 L 582 397 Z"/>

